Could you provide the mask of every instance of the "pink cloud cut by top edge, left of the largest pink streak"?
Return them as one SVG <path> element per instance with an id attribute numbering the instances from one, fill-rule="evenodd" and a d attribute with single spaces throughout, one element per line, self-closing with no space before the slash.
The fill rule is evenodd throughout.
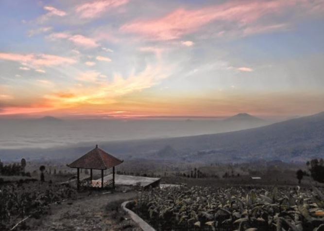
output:
<path id="1" fill-rule="evenodd" d="M 104 12 L 125 5 L 128 2 L 129 0 L 95 0 L 77 6 L 75 11 L 81 18 L 97 18 Z"/>

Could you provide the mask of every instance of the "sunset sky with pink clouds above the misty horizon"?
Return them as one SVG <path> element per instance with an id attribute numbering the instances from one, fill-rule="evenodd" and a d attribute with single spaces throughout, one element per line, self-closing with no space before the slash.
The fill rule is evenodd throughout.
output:
<path id="1" fill-rule="evenodd" d="M 0 0 L 0 117 L 324 110 L 324 0 Z"/>

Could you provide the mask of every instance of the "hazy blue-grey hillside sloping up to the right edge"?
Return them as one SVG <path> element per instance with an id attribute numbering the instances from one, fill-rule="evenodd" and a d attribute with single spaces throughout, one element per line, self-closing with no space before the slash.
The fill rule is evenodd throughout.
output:
<path id="1" fill-rule="evenodd" d="M 324 112 L 263 127 L 221 134 L 106 143 L 119 153 L 154 157 L 165 146 L 198 161 L 304 161 L 324 156 Z M 161 157 L 157 157 L 161 158 Z"/>

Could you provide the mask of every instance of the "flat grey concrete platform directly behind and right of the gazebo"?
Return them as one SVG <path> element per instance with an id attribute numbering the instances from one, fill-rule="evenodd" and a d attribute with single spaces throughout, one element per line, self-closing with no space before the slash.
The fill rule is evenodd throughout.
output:
<path id="1" fill-rule="evenodd" d="M 110 174 L 108 176 L 105 176 L 103 178 L 103 181 L 112 179 L 113 175 Z M 136 184 L 139 184 L 141 187 L 156 187 L 159 186 L 161 178 L 149 178 L 149 177 L 136 177 L 136 176 L 128 176 L 128 175 L 118 175 L 115 174 L 115 185 L 127 185 L 127 186 L 135 186 Z M 93 180 L 96 182 L 100 182 L 101 184 L 101 178 Z"/>

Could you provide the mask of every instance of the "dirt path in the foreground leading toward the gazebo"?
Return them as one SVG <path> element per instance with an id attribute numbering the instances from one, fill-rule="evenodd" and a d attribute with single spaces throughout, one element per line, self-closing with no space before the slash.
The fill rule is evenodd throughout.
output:
<path id="1" fill-rule="evenodd" d="M 49 231 L 140 231 L 120 209 L 121 201 L 136 197 L 136 192 L 84 196 L 55 205 L 51 214 L 34 220 L 33 230 Z"/>

